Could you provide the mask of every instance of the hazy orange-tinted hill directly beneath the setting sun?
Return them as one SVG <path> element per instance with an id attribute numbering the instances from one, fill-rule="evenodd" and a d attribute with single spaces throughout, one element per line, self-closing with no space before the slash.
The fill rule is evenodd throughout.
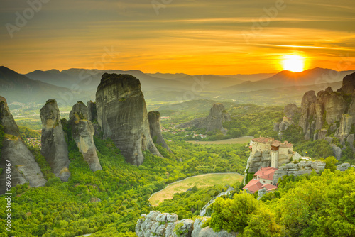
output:
<path id="1" fill-rule="evenodd" d="M 278 87 L 295 87 L 312 84 L 340 82 L 343 77 L 354 71 L 337 72 L 330 69 L 314 68 L 303 72 L 281 71 L 272 77 L 257 82 L 243 82 L 239 85 L 227 87 L 234 92 L 251 92 L 260 89 L 274 89 Z"/>

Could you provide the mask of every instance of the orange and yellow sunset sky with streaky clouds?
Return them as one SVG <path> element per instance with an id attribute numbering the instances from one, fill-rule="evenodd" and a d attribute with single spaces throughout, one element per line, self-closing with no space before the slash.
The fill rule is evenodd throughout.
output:
<path id="1" fill-rule="evenodd" d="M 1 0 L 0 65 L 190 75 L 355 70 L 353 0 Z"/>

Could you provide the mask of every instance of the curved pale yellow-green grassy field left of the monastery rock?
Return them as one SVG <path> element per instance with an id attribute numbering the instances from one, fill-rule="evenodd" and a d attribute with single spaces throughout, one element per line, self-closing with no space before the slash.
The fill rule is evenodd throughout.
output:
<path id="1" fill-rule="evenodd" d="M 160 202 L 163 202 L 164 199 L 172 199 L 175 193 L 185 192 L 187 189 L 190 189 L 196 185 L 198 188 L 211 187 L 216 184 L 235 184 L 236 182 L 241 182 L 243 180 L 243 175 L 236 173 L 228 174 L 206 174 L 198 175 L 194 177 L 189 177 L 185 180 L 169 184 L 165 189 L 155 192 L 149 199 L 149 202 L 153 206 L 158 206 Z"/>

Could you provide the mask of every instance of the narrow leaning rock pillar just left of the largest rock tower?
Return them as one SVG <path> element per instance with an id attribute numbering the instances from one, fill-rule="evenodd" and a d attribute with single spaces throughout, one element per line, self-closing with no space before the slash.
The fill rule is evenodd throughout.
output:
<path id="1" fill-rule="evenodd" d="M 87 106 L 82 101 L 78 101 L 77 104 L 72 106 L 69 117 L 72 127 L 72 138 L 77 143 L 77 148 L 82 153 L 90 170 L 102 170 L 94 143 L 94 126 L 92 126 L 91 121 L 87 120 Z"/>

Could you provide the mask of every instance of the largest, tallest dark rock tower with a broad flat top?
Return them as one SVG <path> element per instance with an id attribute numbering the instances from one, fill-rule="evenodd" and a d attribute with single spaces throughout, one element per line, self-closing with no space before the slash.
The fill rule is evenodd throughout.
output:
<path id="1" fill-rule="evenodd" d="M 97 87 L 97 121 L 127 162 L 141 165 L 142 150 L 160 155 L 151 138 L 141 82 L 131 75 L 102 75 Z"/>

